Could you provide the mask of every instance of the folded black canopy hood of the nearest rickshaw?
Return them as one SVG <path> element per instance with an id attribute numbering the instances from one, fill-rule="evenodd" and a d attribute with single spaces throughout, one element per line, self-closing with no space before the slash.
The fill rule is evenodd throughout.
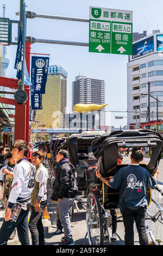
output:
<path id="1" fill-rule="evenodd" d="M 101 157 L 101 173 L 106 174 L 117 166 L 118 148 L 152 148 L 151 160 L 145 168 L 153 173 L 163 152 L 163 139 L 156 131 L 119 130 L 112 131 L 92 141 L 91 149 L 96 159 Z"/>

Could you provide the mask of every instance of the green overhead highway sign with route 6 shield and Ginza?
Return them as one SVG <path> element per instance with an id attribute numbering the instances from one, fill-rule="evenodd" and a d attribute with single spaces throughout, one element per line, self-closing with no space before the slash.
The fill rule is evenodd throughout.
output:
<path id="1" fill-rule="evenodd" d="M 132 55 L 133 11 L 90 7 L 89 52 Z"/>

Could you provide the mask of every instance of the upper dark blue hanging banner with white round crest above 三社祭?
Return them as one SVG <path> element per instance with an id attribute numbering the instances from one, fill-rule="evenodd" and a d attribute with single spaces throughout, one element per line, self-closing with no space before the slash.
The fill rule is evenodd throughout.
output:
<path id="1" fill-rule="evenodd" d="M 49 57 L 32 56 L 31 82 L 36 94 L 45 94 Z"/>

